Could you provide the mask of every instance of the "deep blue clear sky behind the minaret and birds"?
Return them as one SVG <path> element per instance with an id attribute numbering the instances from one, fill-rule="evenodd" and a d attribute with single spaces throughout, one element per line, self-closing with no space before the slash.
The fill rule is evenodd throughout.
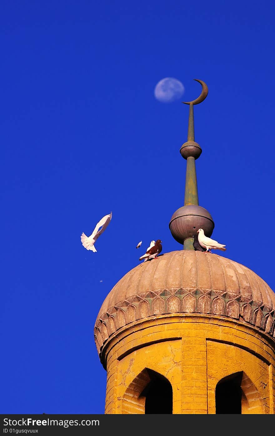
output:
<path id="1" fill-rule="evenodd" d="M 183 205 L 195 106 L 216 254 L 275 290 L 272 1 L 13 1 L 1 7 L 1 413 L 104 413 L 94 322 Z M 80 242 L 112 211 L 97 253 Z M 140 249 L 137 242 L 142 239 Z"/>

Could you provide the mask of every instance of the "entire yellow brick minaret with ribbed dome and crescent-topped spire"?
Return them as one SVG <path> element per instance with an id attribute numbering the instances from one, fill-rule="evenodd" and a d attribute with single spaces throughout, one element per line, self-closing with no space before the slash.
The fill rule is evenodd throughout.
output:
<path id="1" fill-rule="evenodd" d="M 186 102 L 184 206 L 170 222 L 184 250 L 127 272 L 95 322 L 107 414 L 275 413 L 275 293 L 251 269 L 193 247 L 198 228 L 214 228 L 198 205 L 193 106 L 208 91 L 198 82 L 203 92 Z"/>

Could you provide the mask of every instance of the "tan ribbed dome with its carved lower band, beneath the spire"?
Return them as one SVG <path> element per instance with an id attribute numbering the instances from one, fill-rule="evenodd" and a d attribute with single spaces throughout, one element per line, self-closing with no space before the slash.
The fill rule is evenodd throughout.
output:
<path id="1" fill-rule="evenodd" d="M 272 335 L 275 293 L 247 267 L 213 253 L 174 251 L 143 262 L 113 287 L 95 324 L 98 351 L 116 330 L 169 313 L 221 315 Z"/>

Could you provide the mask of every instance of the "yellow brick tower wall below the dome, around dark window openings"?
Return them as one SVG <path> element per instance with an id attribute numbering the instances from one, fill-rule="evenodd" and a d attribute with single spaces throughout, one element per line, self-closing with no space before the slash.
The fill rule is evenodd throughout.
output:
<path id="1" fill-rule="evenodd" d="M 156 316 L 104 345 L 105 413 L 144 413 L 147 369 L 168 379 L 174 414 L 215 414 L 219 380 L 243 371 L 242 413 L 274 413 L 275 344 L 257 327 L 225 317 Z"/>

